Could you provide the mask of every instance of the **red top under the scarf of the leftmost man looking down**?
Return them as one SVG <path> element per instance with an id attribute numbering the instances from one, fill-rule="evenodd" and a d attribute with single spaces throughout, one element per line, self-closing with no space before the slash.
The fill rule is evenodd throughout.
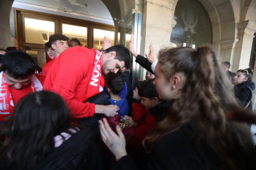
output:
<path id="1" fill-rule="evenodd" d="M 35 74 L 36 78 L 40 81 L 40 83 L 43 85 L 45 82 L 45 76 Z M 27 94 L 30 94 L 32 92 L 31 84 L 29 83 L 27 86 L 23 86 L 19 90 L 15 90 L 12 87 L 10 87 L 10 91 L 12 94 L 12 100 L 14 101 L 14 105 L 16 105 L 22 97 L 24 97 Z"/>

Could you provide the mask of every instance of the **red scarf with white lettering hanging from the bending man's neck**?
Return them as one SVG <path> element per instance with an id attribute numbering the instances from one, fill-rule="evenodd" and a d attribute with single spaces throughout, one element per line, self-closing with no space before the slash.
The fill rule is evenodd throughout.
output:
<path id="1" fill-rule="evenodd" d="M 95 50 L 95 52 L 96 55 L 94 60 L 93 72 L 90 81 L 88 82 L 88 89 L 85 97 L 83 98 L 83 102 L 85 102 L 88 98 L 92 97 L 93 95 L 103 91 L 103 87 L 105 84 L 104 75 L 101 72 L 103 64 L 103 51 Z"/>

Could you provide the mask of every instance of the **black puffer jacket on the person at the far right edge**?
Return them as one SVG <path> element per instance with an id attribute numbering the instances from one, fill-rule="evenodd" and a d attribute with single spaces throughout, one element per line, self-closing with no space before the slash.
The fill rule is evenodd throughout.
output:
<path id="1" fill-rule="evenodd" d="M 255 83 L 251 80 L 234 86 L 234 94 L 242 107 L 246 107 L 250 102 L 247 109 L 252 110 L 252 91 L 254 91 L 255 87 Z"/>

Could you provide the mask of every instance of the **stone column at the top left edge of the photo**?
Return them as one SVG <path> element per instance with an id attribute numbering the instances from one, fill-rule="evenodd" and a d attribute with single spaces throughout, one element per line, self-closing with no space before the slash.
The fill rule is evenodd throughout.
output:
<path id="1" fill-rule="evenodd" d="M 6 49 L 11 46 L 10 12 L 14 0 L 0 1 L 0 48 Z"/>

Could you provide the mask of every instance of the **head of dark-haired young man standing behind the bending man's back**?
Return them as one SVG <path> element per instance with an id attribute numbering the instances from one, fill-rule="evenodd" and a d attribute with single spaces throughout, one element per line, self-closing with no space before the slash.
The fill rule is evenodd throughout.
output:
<path id="1" fill-rule="evenodd" d="M 61 52 L 69 48 L 69 38 L 62 34 L 53 34 L 49 37 L 49 43 L 55 51 L 55 57 L 59 57 Z"/>

